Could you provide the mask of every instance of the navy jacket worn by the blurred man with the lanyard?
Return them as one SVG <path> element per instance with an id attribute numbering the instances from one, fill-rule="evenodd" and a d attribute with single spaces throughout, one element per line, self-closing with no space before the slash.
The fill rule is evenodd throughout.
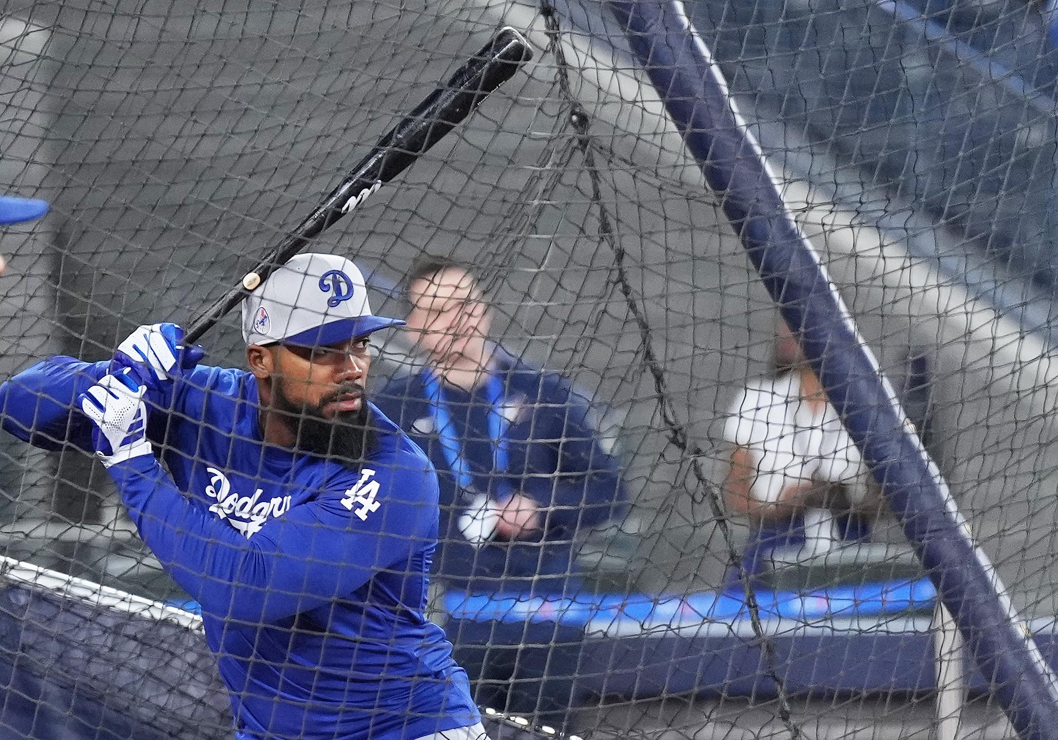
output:
<path id="1" fill-rule="evenodd" d="M 471 500 L 457 482 L 436 433 L 422 372 L 398 376 L 377 403 L 426 451 L 440 474 L 441 540 L 434 572 L 471 590 L 562 592 L 576 588 L 578 537 L 619 516 L 626 501 L 621 464 L 594 423 L 588 402 L 562 375 L 532 368 L 497 348 L 493 374 L 503 388 L 508 465 L 495 466 L 492 403 L 482 388 L 444 386 L 449 415 L 474 489 L 501 498 L 500 488 L 532 498 L 545 514 L 533 539 L 491 540 L 475 547 L 458 528 Z M 573 581 L 573 582 L 571 582 Z"/>

